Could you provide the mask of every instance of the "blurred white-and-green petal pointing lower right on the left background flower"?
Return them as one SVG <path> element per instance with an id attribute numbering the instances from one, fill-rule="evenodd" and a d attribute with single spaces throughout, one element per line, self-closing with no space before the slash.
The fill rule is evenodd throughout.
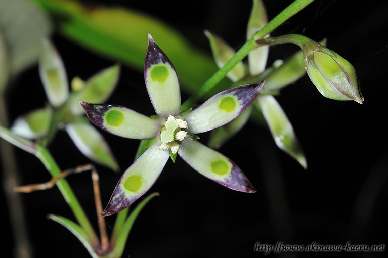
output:
<path id="1" fill-rule="evenodd" d="M 111 149 L 92 124 L 89 122 L 68 123 L 66 132 L 83 155 L 114 171 L 119 169 Z"/>

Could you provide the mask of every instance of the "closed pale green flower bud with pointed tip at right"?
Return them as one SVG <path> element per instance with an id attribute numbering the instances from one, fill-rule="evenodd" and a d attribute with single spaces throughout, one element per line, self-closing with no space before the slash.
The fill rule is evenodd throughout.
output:
<path id="1" fill-rule="evenodd" d="M 362 104 L 364 98 L 351 63 L 313 40 L 303 46 L 303 53 L 307 74 L 323 96 Z"/>

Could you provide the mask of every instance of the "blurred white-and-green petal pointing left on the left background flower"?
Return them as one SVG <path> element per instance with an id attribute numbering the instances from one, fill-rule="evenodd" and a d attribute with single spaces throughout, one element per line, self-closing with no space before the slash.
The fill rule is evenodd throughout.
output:
<path id="1" fill-rule="evenodd" d="M 52 111 L 48 108 L 40 108 L 19 116 L 12 124 L 12 133 L 26 139 L 38 139 L 49 132 Z"/>

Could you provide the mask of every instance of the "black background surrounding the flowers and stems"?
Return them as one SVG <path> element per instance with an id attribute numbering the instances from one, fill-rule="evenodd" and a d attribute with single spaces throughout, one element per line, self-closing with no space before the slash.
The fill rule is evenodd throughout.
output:
<path id="1" fill-rule="evenodd" d="M 264 1 L 271 19 L 292 1 Z M 210 54 L 204 29 L 217 33 L 238 49 L 245 39 L 251 1 L 94 2 L 121 5 L 150 13 L 176 27 L 194 45 Z M 159 192 L 140 213 L 123 257 L 261 257 L 257 241 L 275 244 L 388 244 L 388 152 L 386 145 L 387 17 L 386 1 L 319 1 L 289 19 L 272 35 L 301 33 L 314 40 L 328 39 L 328 48 L 356 68 L 365 102 L 341 102 L 322 97 L 304 76 L 285 88 L 282 105 L 306 153 L 308 169 L 279 150 L 267 128 L 249 123 L 220 149 L 245 172 L 257 189 L 239 193 L 202 177 L 179 157 L 167 162 L 151 188 Z M 62 55 L 69 79 L 88 78 L 115 60 L 85 50 L 59 34 L 53 41 Z M 146 46 L 144 46 L 144 51 Z M 297 49 L 273 47 L 269 63 L 286 59 Z M 168 53 L 166 53 L 168 56 Z M 146 115 L 152 105 L 144 91 L 143 75 L 122 67 L 120 81 L 109 103 L 122 104 Z M 20 101 L 20 93 L 28 98 Z M 187 95 L 182 94 L 185 100 Z M 9 93 L 10 119 L 45 103 L 37 67 L 24 72 Z M 121 171 L 133 162 L 137 140 L 102 132 L 116 155 Z M 200 135 L 205 143 L 206 134 Z M 65 132 L 50 146 L 62 169 L 89 163 Z M 15 148 L 21 184 L 46 182 L 49 174 L 34 156 Z M 121 176 L 98 167 L 103 205 Z M 68 178 L 97 230 L 90 173 Z M 3 192 L 3 191 L 2 191 Z M 74 219 L 57 188 L 23 194 L 24 212 L 35 257 L 88 257 L 87 250 L 47 214 Z M 2 195 L 2 202 L 4 197 Z M 137 202 L 139 203 L 139 201 Z M 135 203 L 134 205 L 136 205 Z M 4 201 L 2 235 L 12 240 Z M 113 227 L 115 216 L 106 223 Z M 12 256 L 12 244 L 2 243 L 2 257 Z M 383 253 L 282 253 L 281 257 L 384 257 Z"/>

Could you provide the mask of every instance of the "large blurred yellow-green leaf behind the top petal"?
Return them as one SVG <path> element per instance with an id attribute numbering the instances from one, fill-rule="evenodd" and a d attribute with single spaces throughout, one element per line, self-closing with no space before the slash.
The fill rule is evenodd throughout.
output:
<path id="1" fill-rule="evenodd" d="M 218 70 L 211 56 L 192 46 L 175 28 L 147 14 L 120 7 L 86 6 L 74 0 L 35 1 L 53 15 L 59 33 L 139 71 L 143 70 L 144 44 L 150 33 L 173 62 L 182 89 L 189 93 L 196 92 Z M 227 83 L 224 80 L 206 96 L 226 89 Z"/>

